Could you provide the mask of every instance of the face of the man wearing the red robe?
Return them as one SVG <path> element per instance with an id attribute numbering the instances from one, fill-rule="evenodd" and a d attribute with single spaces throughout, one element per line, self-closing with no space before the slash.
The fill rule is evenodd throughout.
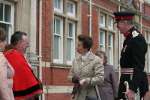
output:
<path id="1" fill-rule="evenodd" d="M 23 35 L 22 40 L 19 42 L 19 47 L 25 52 L 29 47 L 29 39 L 27 36 Z"/>

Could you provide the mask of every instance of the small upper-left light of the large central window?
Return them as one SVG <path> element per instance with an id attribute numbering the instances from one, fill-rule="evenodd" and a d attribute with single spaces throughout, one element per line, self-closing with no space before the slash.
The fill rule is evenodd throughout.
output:
<path id="1" fill-rule="evenodd" d="M 62 13 L 63 12 L 63 0 L 53 0 L 54 11 Z"/>

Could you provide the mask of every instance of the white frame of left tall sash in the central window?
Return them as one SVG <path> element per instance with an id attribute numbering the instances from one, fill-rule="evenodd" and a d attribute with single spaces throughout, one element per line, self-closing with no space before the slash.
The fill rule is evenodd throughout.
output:
<path id="1" fill-rule="evenodd" d="M 59 36 L 60 38 L 61 38 L 61 40 L 60 40 L 60 44 L 59 44 L 59 59 L 54 59 L 53 58 L 53 62 L 54 63 L 57 63 L 57 64 L 62 64 L 63 63 L 63 19 L 62 18 L 59 18 L 59 17 L 54 17 L 54 21 L 55 21 L 55 19 L 58 19 L 58 20 L 60 20 L 60 34 L 57 34 L 57 33 L 54 33 L 53 32 L 53 40 L 54 40 L 54 36 L 56 35 L 56 36 Z M 55 26 L 56 27 L 56 26 Z M 54 29 L 55 30 L 55 29 Z M 53 41 L 54 42 L 54 41 Z M 54 43 L 53 43 L 53 45 L 54 45 Z M 54 47 L 54 46 L 53 46 Z M 53 48 L 54 49 L 54 48 Z M 53 50 L 54 51 L 54 50 Z"/>

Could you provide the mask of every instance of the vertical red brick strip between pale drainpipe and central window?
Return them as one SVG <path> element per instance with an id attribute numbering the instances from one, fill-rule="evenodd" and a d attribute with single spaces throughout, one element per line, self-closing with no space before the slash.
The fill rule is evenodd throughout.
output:
<path id="1" fill-rule="evenodd" d="M 42 59 L 51 60 L 51 40 L 53 25 L 53 0 L 42 0 Z"/>

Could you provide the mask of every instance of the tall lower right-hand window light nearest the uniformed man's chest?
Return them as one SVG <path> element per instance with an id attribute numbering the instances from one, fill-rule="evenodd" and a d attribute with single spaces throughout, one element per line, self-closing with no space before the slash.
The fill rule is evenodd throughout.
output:
<path id="1" fill-rule="evenodd" d="M 108 63 L 113 64 L 113 33 L 108 34 Z"/>

